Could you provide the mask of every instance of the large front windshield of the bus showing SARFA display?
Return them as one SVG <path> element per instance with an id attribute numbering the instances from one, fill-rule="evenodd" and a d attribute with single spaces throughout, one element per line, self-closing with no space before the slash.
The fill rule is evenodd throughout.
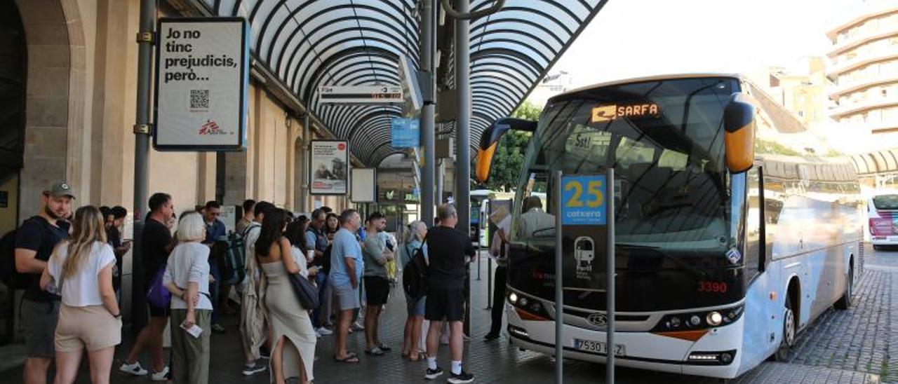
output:
<path id="1" fill-rule="evenodd" d="M 724 159 L 723 110 L 739 91 L 734 78 L 665 79 L 559 96 L 542 112 L 515 198 L 513 243 L 554 246 L 551 176 L 615 171 L 619 268 L 732 267 L 737 244 Z M 542 195 L 545 193 L 545 195 Z M 541 208 L 527 196 L 545 196 Z M 738 196 L 738 195 L 737 195 Z M 744 196 L 744 195 L 743 195 Z M 734 205 L 736 204 L 736 205 Z"/>

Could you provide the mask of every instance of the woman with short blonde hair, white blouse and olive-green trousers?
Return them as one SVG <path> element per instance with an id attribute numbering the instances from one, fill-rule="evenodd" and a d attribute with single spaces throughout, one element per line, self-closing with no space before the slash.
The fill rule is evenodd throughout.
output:
<path id="1" fill-rule="evenodd" d="M 172 379 L 176 383 L 209 382 L 209 247 L 206 224 L 198 213 L 178 223 L 178 245 L 165 267 L 163 284 L 172 292 Z M 198 328 L 194 328 L 198 327 Z M 194 330 L 198 334 L 191 334 Z"/>

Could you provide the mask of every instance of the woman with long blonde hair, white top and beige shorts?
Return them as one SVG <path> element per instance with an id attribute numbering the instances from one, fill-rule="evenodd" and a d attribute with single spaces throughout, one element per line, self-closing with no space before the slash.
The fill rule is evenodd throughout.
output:
<path id="1" fill-rule="evenodd" d="M 112 289 L 115 253 L 106 242 L 100 210 L 75 211 L 72 236 L 61 242 L 40 276 L 40 287 L 62 296 L 56 336 L 56 383 L 73 383 L 87 348 L 91 381 L 110 382 L 115 346 L 121 343 L 121 313 Z"/>

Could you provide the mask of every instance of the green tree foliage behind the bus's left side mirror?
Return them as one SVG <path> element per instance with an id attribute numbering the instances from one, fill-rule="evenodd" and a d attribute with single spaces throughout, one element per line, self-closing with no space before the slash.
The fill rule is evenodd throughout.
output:
<path id="1" fill-rule="evenodd" d="M 538 120 L 542 110 L 533 103 L 524 101 L 524 104 L 512 113 L 513 118 Z M 524 152 L 530 143 L 529 132 L 509 131 L 499 139 L 496 153 L 493 155 L 492 170 L 489 172 L 489 181 L 486 186 L 476 185 L 474 172 L 477 161 L 471 161 L 471 188 L 486 188 L 498 191 L 509 191 L 517 186 L 521 175 L 521 167 L 524 165 Z"/>

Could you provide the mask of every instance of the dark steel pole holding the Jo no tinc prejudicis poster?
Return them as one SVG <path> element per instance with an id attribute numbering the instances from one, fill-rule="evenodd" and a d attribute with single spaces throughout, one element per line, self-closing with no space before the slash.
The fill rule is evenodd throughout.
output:
<path id="1" fill-rule="evenodd" d="M 131 252 L 131 332 L 139 332 L 146 323 L 144 266 L 140 262 L 144 219 L 149 190 L 150 103 L 153 83 L 153 44 L 155 40 L 156 0 L 140 0 L 137 33 L 137 105 L 134 129 L 134 248 Z"/>

